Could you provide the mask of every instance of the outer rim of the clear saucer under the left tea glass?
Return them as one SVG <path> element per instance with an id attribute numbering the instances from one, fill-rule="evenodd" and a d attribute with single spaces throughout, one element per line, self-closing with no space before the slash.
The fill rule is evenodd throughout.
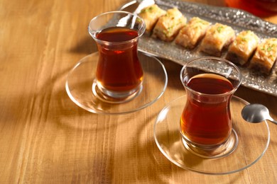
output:
<path id="1" fill-rule="evenodd" d="M 135 113 L 136 111 L 142 110 L 143 108 L 147 108 L 150 105 L 153 105 L 153 103 L 156 103 L 156 101 L 158 99 L 161 98 L 161 96 L 163 96 L 163 93 L 165 93 L 165 90 L 168 86 L 168 74 L 167 71 L 165 69 L 164 64 L 161 62 L 160 59 L 158 59 L 157 57 L 154 57 L 151 54 L 148 54 L 146 52 L 141 52 L 138 50 L 138 54 L 143 54 L 144 56 L 151 58 L 152 62 L 157 62 L 158 65 L 160 65 L 161 67 L 161 72 L 163 73 L 163 76 L 165 77 L 164 79 L 164 84 L 163 84 L 163 88 L 161 88 L 160 93 L 156 96 L 156 98 L 153 98 L 153 100 L 148 101 L 146 103 L 143 103 L 143 105 L 141 105 L 139 108 L 133 108 L 130 110 L 125 110 L 123 112 L 107 112 L 105 110 L 99 110 L 99 109 L 92 109 L 89 108 L 85 105 L 83 105 L 82 103 L 80 103 L 77 99 L 74 98 L 74 96 L 72 96 L 72 93 L 70 93 L 70 88 L 69 88 L 69 84 L 68 84 L 68 79 L 70 77 L 70 75 L 72 74 L 73 71 L 75 71 L 75 69 L 77 67 L 79 67 L 81 64 L 85 63 L 85 62 L 91 62 L 89 61 L 89 57 L 92 57 L 94 54 L 99 54 L 99 52 L 93 52 L 91 54 L 87 54 L 85 57 L 82 57 L 77 63 L 75 63 L 74 67 L 72 67 L 72 69 L 70 69 L 70 71 L 67 74 L 66 77 L 66 81 L 65 81 L 65 91 L 67 92 L 67 95 L 70 97 L 70 100 L 72 100 L 73 103 L 75 103 L 78 107 L 87 110 L 89 113 L 95 113 L 95 114 L 99 114 L 99 115 L 123 115 L 123 114 L 128 114 L 128 113 Z M 98 56 L 97 56 L 98 57 Z M 143 62 L 143 61 L 140 61 Z M 149 62 L 149 61 L 148 61 Z M 146 73 L 147 74 L 147 73 Z M 148 90 L 149 91 L 149 90 Z M 135 98 L 134 98 L 135 100 Z M 129 103 L 129 102 L 127 102 Z M 112 104 L 112 103 L 111 103 Z"/>

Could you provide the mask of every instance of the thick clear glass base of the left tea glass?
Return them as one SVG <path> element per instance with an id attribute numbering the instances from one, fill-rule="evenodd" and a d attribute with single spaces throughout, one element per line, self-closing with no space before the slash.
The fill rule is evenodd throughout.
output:
<path id="1" fill-rule="evenodd" d="M 136 98 L 136 96 L 139 96 L 142 88 L 143 85 L 141 83 L 132 91 L 118 93 L 115 91 L 108 91 L 104 88 L 99 87 L 99 85 L 97 85 L 97 80 L 95 79 L 92 84 L 92 93 L 94 94 L 94 96 L 107 103 L 126 103 Z"/>

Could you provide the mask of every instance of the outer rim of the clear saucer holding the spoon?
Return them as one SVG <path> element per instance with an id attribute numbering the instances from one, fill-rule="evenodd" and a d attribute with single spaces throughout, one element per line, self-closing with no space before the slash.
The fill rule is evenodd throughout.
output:
<path id="1" fill-rule="evenodd" d="M 156 136 L 156 125 L 157 125 L 157 122 L 158 122 L 158 117 L 161 115 L 161 113 L 167 109 L 172 103 L 176 102 L 176 101 L 180 101 L 179 99 L 180 98 L 185 98 L 186 94 L 183 95 L 183 96 L 179 96 L 178 98 L 175 98 L 173 100 L 171 100 L 169 103 L 167 103 L 165 105 L 165 107 L 158 113 L 158 116 L 154 122 L 154 126 L 153 126 L 153 136 L 154 136 L 154 139 L 155 139 L 155 142 L 156 142 L 156 145 L 158 146 L 158 149 L 161 151 L 161 153 L 163 154 L 163 156 L 165 156 L 166 159 L 168 159 L 171 163 L 174 163 L 176 166 L 180 167 L 180 168 L 183 168 L 183 169 L 186 169 L 188 171 L 192 171 L 192 172 L 195 172 L 195 173 L 200 173 L 200 174 L 205 174 L 205 175 L 211 175 L 211 176 L 221 176 L 221 175 L 227 175 L 227 174 L 232 174 L 232 173 L 237 173 L 239 171 L 243 171 L 244 169 L 246 168 L 249 168 L 251 166 L 254 165 L 254 163 L 256 163 L 257 161 L 259 161 L 262 156 L 264 156 L 264 154 L 266 153 L 266 150 L 268 149 L 268 146 L 269 146 L 269 143 L 270 143 L 270 129 L 269 129 L 269 126 L 268 126 L 268 122 L 265 120 L 264 122 L 261 122 L 261 123 L 264 123 L 264 125 L 266 126 L 266 129 L 268 130 L 268 136 L 266 137 L 267 138 L 267 141 L 266 141 L 266 144 L 264 146 L 264 150 L 261 152 L 261 154 L 259 154 L 259 156 L 254 160 L 252 161 L 251 163 L 247 164 L 246 166 L 244 167 L 241 167 L 239 169 L 234 169 L 232 171 L 224 171 L 224 172 L 208 172 L 208 171 L 201 171 L 200 169 L 196 169 L 196 168 L 190 168 L 188 166 L 183 166 L 181 163 L 178 163 L 178 161 L 175 161 L 173 158 L 171 158 L 168 154 L 166 154 L 166 152 L 163 150 L 163 148 L 161 147 L 161 145 L 158 143 L 158 138 Z M 233 98 L 237 98 L 237 100 L 241 101 L 242 103 L 244 103 L 245 105 L 248 105 L 249 102 L 242 99 L 242 98 L 239 98 L 238 96 L 232 96 L 232 99 Z M 250 123 L 250 122 L 249 122 Z M 169 132 L 169 131 L 168 131 Z M 202 158 L 203 159 L 203 158 Z M 210 160 L 213 160 L 213 159 L 210 159 Z M 216 159 L 214 159 L 216 160 Z"/>

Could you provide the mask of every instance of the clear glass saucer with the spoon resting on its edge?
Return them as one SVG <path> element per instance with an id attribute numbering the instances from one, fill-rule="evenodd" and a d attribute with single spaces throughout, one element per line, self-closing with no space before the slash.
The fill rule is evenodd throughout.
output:
<path id="1" fill-rule="evenodd" d="M 180 135 L 180 115 L 185 107 L 186 96 L 181 96 L 161 110 L 155 125 L 154 137 L 158 149 L 175 165 L 210 175 L 236 173 L 259 161 L 266 152 L 270 132 L 266 121 L 249 123 L 242 119 L 241 110 L 249 104 L 239 97 L 231 100 L 233 130 L 239 139 L 237 148 L 220 159 L 205 159 L 185 148 Z M 255 149 L 255 151 L 254 151 Z"/>

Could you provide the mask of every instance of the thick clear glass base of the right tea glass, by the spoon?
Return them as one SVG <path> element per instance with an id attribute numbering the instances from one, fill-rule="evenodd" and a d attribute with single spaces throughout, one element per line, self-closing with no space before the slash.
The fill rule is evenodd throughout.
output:
<path id="1" fill-rule="evenodd" d="M 184 137 L 182 137 L 182 141 L 185 148 L 192 152 L 192 154 L 201 156 L 205 159 L 219 159 L 234 152 L 239 143 L 239 138 L 237 136 L 237 132 L 232 129 L 227 141 L 217 146 L 193 145 Z"/>

